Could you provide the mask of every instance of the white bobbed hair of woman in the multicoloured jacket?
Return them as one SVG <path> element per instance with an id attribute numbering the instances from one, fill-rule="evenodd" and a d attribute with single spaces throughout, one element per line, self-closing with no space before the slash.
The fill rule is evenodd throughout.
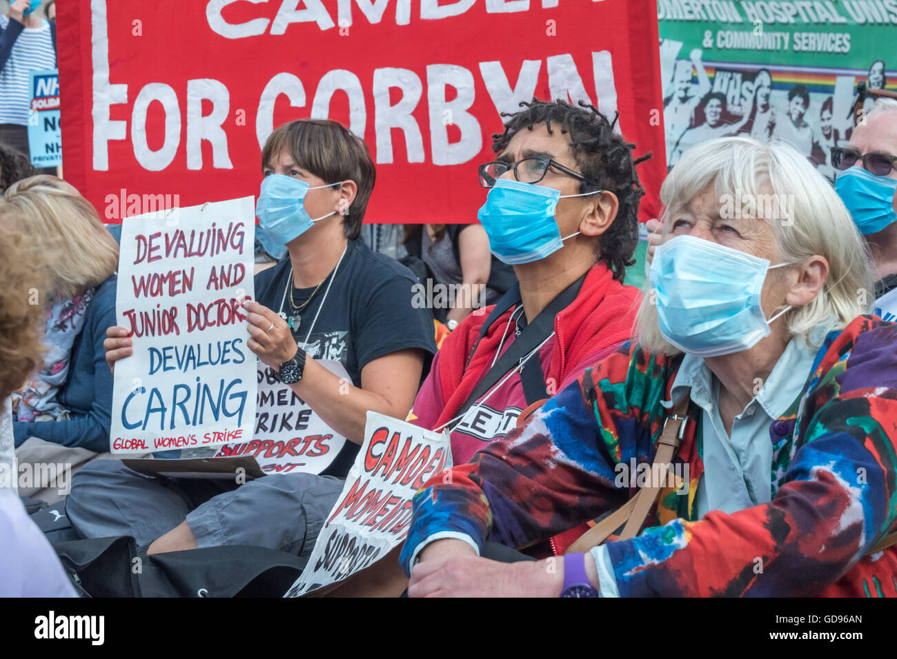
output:
<path id="1" fill-rule="evenodd" d="M 727 199 L 771 198 L 776 202 L 755 201 L 754 214 L 770 223 L 783 261 L 797 263 L 814 255 L 828 261 L 829 276 L 823 290 L 783 316 L 792 336 L 810 345 L 810 331 L 828 318 L 834 317 L 832 329 L 840 329 L 867 313 L 873 280 L 866 243 L 832 186 L 793 146 L 749 137 L 698 143 L 666 177 L 660 201 L 666 209 L 673 209 L 688 204 L 710 185 L 721 205 Z M 664 222 L 665 237 L 669 224 Z M 676 354 L 679 351 L 660 335 L 650 282 L 647 286 L 637 321 L 639 340 L 650 352 Z"/>

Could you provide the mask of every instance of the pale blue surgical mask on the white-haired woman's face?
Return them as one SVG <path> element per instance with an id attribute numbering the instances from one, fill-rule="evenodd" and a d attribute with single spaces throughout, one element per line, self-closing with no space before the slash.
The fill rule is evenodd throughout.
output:
<path id="1" fill-rule="evenodd" d="M 677 236 L 658 247 L 651 264 L 660 334 L 681 351 L 717 357 L 753 348 L 770 334 L 760 293 L 770 267 L 752 256 L 709 240 Z"/>

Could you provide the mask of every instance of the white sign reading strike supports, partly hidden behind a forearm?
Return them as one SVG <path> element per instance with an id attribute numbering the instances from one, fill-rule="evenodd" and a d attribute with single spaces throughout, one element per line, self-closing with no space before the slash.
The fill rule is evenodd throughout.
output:
<path id="1" fill-rule="evenodd" d="M 348 381 L 337 360 L 318 364 Z M 257 364 L 256 432 L 250 441 L 221 447 L 215 457 L 254 455 L 267 473 L 321 473 L 344 447 L 346 438 L 335 432 L 289 385 L 274 377 L 274 370 Z"/>

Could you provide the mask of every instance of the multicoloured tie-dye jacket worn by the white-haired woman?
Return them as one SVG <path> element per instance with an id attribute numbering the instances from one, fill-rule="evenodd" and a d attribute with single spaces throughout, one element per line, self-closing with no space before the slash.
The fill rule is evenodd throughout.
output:
<path id="1" fill-rule="evenodd" d="M 405 571 L 434 533 L 523 547 L 621 506 L 637 490 L 614 484 L 614 466 L 651 463 L 681 361 L 623 345 L 426 483 Z M 859 316 L 826 337 L 804 395 L 757 438 L 774 446 L 770 503 L 697 517 L 700 412 L 690 405 L 674 459 L 689 465 L 688 495 L 664 490 L 650 528 L 607 544 L 622 596 L 897 595 L 897 546 L 867 555 L 897 518 L 897 325 Z"/>

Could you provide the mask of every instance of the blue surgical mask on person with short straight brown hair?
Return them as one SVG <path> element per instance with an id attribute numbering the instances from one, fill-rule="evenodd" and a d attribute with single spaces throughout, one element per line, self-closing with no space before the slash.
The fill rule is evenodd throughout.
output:
<path id="1" fill-rule="evenodd" d="M 312 220 L 305 211 L 304 200 L 309 190 L 338 185 L 340 184 L 331 183 L 328 186 L 310 187 L 299 178 L 283 174 L 269 174 L 263 178 L 262 189 L 256 203 L 256 216 L 265 236 L 262 238 L 262 244 L 265 245 L 270 241 L 277 246 L 286 245 L 311 229 L 314 222 L 334 215 L 335 211 L 328 212 L 327 215 Z M 267 251 L 274 253 L 271 250 Z"/>

